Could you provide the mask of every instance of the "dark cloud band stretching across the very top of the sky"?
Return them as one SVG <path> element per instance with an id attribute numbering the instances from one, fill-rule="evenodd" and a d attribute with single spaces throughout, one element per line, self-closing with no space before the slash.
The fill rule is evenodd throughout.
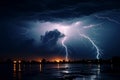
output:
<path id="1" fill-rule="evenodd" d="M 73 18 L 119 9 L 117 0 L 2 0 L 2 20 L 51 20 Z"/>

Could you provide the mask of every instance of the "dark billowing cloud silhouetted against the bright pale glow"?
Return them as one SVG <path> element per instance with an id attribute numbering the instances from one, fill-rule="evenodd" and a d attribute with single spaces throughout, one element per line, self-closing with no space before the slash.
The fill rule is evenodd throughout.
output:
<path id="1" fill-rule="evenodd" d="M 62 48 L 57 45 L 57 42 L 64 36 L 65 35 L 59 32 L 57 29 L 53 31 L 47 31 L 45 35 L 41 35 L 41 44 L 35 49 L 35 53 L 37 53 L 35 55 L 48 58 L 58 55 L 63 56 L 63 54 L 60 54 L 60 50 Z"/>

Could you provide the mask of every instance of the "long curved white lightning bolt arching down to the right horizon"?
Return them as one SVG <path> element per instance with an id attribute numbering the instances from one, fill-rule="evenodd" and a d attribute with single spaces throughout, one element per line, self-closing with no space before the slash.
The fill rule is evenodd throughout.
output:
<path id="1" fill-rule="evenodd" d="M 96 49 L 96 53 L 97 53 L 96 58 L 99 59 L 100 50 L 99 50 L 98 46 L 94 43 L 94 41 L 93 41 L 90 37 L 88 37 L 88 36 L 86 36 L 86 35 L 84 35 L 84 34 L 79 33 L 79 35 L 82 36 L 82 37 L 84 37 L 84 38 L 86 38 L 86 39 L 88 39 L 88 40 L 91 42 L 91 44 L 92 44 L 92 45 L 95 47 L 95 49 Z"/>

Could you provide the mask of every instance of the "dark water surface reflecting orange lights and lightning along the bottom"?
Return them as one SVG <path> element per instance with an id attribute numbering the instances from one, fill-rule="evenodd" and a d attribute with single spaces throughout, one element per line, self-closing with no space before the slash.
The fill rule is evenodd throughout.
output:
<path id="1" fill-rule="evenodd" d="M 0 64 L 0 80 L 120 80 L 119 76 L 120 66 L 113 64 Z"/>

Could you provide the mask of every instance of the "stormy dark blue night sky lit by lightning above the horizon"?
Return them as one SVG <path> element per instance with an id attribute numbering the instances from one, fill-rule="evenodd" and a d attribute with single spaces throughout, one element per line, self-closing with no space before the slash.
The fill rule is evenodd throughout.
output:
<path id="1" fill-rule="evenodd" d="M 0 0 L 0 57 L 120 56 L 118 0 Z"/>

